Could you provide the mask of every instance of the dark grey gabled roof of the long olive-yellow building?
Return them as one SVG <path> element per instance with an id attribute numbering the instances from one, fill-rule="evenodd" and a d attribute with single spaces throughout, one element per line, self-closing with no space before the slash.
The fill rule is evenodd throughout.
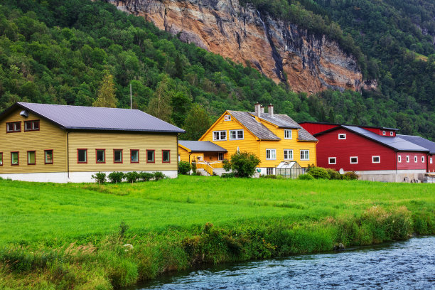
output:
<path id="1" fill-rule="evenodd" d="M 63 129 L 150 131 L 185 133 L 172 124 L 138 109 L 66 106 L 61 104 L 34 104 L 17 102 L 0 114 L 0 119 L 16 107 L 27 109 Z"/>

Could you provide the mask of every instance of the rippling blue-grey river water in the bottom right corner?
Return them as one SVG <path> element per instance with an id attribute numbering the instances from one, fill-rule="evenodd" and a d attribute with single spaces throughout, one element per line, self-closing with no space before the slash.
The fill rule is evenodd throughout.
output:
<path id="1" fill-rule="evenodd" d="M 161 276 L 136 289 L 435 289 L 435 237 L 224 264 Z"/>

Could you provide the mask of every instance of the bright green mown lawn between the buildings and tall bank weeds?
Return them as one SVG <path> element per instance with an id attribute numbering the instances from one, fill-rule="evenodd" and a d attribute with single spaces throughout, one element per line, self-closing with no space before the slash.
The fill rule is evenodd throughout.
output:
<path id="1" fill-rule="evenodd" d="M 434 210 L 435 186 L 203 176 L 104 186 L 0 181 L 0 241 L 107 235 L 121 221 L 131 230 L 157 232 L 262 218 L 301 222 L 360 214 L 374 205 Z"/>

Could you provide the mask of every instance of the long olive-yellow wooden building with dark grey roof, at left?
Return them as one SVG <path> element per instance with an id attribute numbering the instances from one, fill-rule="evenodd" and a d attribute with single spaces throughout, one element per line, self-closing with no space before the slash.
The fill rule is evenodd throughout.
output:
<path id="1" fill-rule="evenodd" d="M 0 114 L 0 177 L 90 182 L 95 172 L 178 173 L 184 130 L 135 109 L 18 102 Z"/>

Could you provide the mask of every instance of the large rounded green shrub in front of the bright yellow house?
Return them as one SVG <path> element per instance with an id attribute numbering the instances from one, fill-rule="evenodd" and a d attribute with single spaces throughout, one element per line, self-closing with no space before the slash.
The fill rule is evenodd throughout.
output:
<path id="1" fill-rule="evenodd" d="M 236 152 L 232 154 L 231 160 L 223 161 L 225 171 L 234 171 L 237 177 L 251 177 L 255 173 L 255 168 L 260 163 L 259 158 L 255 154 L 249 152 Z"/>

